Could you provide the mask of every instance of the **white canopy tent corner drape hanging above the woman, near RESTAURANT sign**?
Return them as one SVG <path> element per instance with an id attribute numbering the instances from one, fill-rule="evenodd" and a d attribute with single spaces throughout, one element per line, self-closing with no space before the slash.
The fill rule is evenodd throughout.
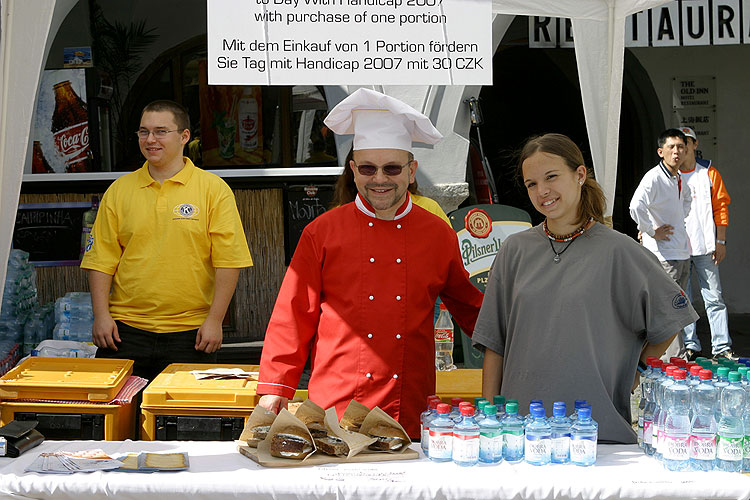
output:
<path id="1" fill-rule="evenodd" d="M 492 0 L 492 13 L 570 18 L 596 179 L 612 215 L 617 181 L 625 20 L 668 0 Z"/>

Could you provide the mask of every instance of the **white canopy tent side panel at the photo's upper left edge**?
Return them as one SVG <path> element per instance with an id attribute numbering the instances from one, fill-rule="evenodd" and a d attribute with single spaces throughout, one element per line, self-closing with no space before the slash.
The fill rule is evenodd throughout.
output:
<path id="1" fill-rule="evenodd" d="M 0 0 L 0 283 L 5 283 L 39 77 L 77 0 Z M 0 286 L 0 299 L 3 287 Z"/>

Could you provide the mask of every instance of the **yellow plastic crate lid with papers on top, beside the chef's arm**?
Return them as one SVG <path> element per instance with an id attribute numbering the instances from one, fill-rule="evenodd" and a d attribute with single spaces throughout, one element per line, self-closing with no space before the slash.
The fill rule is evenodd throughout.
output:
<path id="1" fill-rule="evenodd" d="M 198 380 L 193 370 L 241 368 L 250 379 Z M 254 408 L 258 365 L 173 363 L 143 390 L 142 408 Z"/>

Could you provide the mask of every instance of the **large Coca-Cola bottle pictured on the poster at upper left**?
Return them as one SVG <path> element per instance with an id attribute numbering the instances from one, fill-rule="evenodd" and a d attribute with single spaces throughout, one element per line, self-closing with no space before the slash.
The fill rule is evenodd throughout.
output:
<path id="1" fill-rule="evenodd" d="M 88 172 L 89 114 L 70 85 L 70 80 L 56 84 L 52 135 L 57 152 L 63 158 L 66 172 Z"/>

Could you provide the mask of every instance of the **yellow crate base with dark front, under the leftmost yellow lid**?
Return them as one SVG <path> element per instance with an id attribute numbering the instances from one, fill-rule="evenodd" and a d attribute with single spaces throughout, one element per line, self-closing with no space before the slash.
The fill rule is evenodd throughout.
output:
<path id="1" fill-rule="evenodd" d="M 123 441 L 133 438 L 135 408 L 134 403 L 86 405 L 2 401 L 0 425 L 14 419 L 37 420 L 38 429 L 46 439 Z"/>

